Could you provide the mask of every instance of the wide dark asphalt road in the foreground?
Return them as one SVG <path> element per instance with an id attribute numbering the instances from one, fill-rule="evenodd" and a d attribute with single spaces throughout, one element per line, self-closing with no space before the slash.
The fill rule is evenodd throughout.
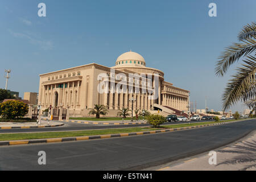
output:
<path id="1" fill-rule="evenodd" d="M 181 130 L 80 142 L 0 147 L 0 170 L 138 170 L 232 143 L 256 129 L 256 119 Z M 46 165 L 38 152 L 46 152 Z"/>

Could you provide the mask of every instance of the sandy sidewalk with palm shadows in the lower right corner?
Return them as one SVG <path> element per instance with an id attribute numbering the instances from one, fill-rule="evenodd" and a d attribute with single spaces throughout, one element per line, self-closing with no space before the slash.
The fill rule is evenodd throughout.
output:
<path id="1" fill-rule="evenodd" d="M 207 154 L 172 162 L 158 171 L 256 171 L 256 131 L 232 146 L 216 151 L 217 163 L 209 164 Z"/>

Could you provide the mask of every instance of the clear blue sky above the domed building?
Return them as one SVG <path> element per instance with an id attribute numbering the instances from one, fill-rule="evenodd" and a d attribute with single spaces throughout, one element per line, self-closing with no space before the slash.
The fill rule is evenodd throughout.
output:
<path id="1" fill-rule="evenodd" d="M 40 2 L 46 3 L 46 17 L 38 16 Z M 217 17 L 208 15 L 211 2 Z M 221 110 L 221 94 L 237 66 L 216 77 L 217 58 L 256 17 L 254 0 L 1 0 L 0 5 L 0 88 L 7 68 L 9 89 L 23 96 L 38 92 L 41 73 L 92 62 L 112 67 L 131 49 L 147 67 L 163 71 L 166 81 L 190 90 L 197 109 L 205 107 L 207 96 L 214 110 Z"/>

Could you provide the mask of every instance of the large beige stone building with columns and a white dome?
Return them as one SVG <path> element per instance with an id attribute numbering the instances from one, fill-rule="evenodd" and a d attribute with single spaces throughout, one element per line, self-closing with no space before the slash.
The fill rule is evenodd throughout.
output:
<path id="1" fill-rule="evenodd" d="M 144 58 L 131 51 L 119 56 L 111 68 L 91 63 L 40 75 L 38 103 L 43 110 L 50 105 L 63 107 L 79 117 L 88 116 L 94 104 L 102 104 L 109 109 L 107 116 L 113 117 L 122 107 L 131 109 L 131 97 L 136 99 L 134 110 L 179 115 L 187 111 L 189 91 L 165 81 L 162 71 L 146 67 Z"/>

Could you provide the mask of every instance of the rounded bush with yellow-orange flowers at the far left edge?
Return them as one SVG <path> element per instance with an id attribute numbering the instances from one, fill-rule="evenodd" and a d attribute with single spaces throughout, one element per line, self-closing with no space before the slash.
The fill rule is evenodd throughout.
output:
<path id="1" fill-rule="evenodd" d="M 0 115 L 6 119 L 14 119 L 24 117 L 28 112 L 27 104 L 24 102 L 13 100 L 0 104 Z"/>

